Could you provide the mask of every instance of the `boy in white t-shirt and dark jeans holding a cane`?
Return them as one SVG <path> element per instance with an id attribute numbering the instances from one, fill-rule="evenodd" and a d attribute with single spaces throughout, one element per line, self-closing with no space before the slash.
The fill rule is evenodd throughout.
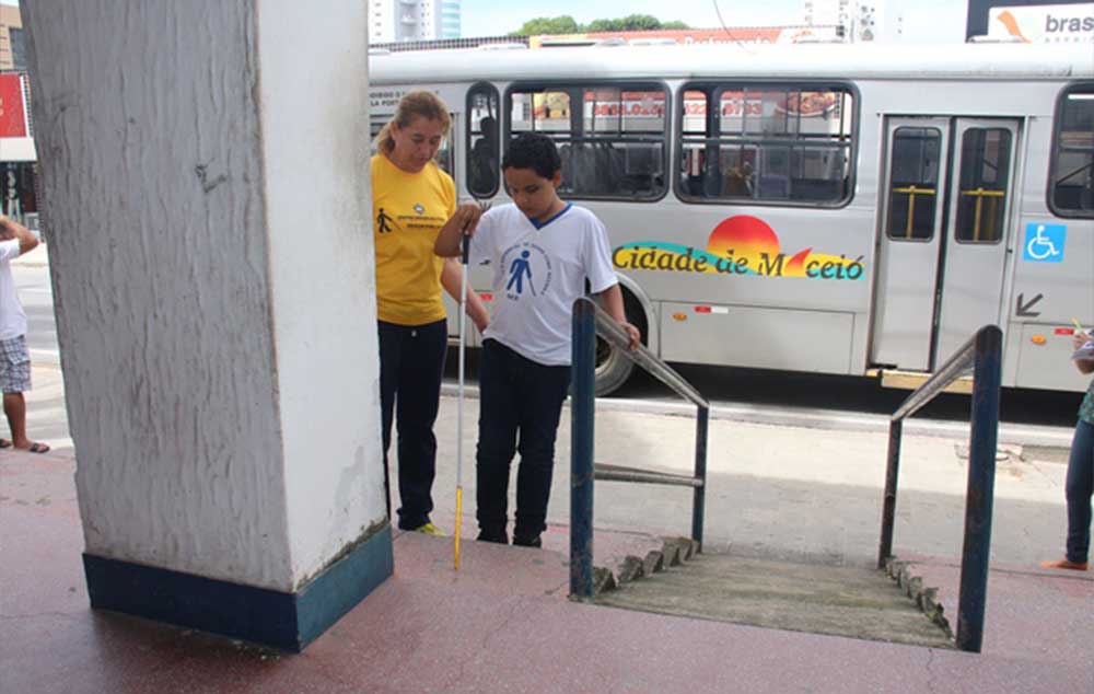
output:
<path id="1" fill-rule="evenodd" d="M 485 213 L 462 206 L 461 223 L 441 232 L 434 251 L 459 255 L 463 229 L 472 238 L 470 263 L 493 268 L 494 300 L 479 366 L 478 539 L 509 542 L 509 470 L 520 451 L 513 544 L 538 547 L 570 385 L 571 314 L 586 279 L 632 348 L 641 335 L 626 320 L 604 224 L 558 197 L 562 165 L 550 138 L 524 134 L 513 140 L 502 171 L 513 205 Z"/>

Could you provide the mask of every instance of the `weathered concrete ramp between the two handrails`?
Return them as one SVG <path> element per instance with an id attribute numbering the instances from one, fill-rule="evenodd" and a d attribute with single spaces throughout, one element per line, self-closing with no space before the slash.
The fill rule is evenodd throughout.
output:
<path id="1" fill-rule="evenodd" d="M 908 592 L 871 568 L 697 554 L 620 582 L 597 604 L 791 632 L 953 648 Z"/>

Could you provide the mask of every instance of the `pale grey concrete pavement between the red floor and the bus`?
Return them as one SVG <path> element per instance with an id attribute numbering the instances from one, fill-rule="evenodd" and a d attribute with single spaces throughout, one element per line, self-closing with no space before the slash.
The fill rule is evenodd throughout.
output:
<path id="1" fill-rule="evenodd" d="M 434 520 L 454 511 L 455 398 L 437 424 Z M 474 500 L 478 401 L 465 401 L 464 488 Z M 691 471 L 693 418 L 598 410 L 597 462 L 663 472 Z M 967 441 L 967 439 L 966 439 Z M 767 558 L 862 565 L 875 560 L 885 484 L 887 433 L 712 420 L 708 453 L 707 546 Z M 965 443 L 905 435 L 897 500 L 897 553 L 956 557 L 964 532 Z M 1009 453 L 1006 452 L 1009 451 Z M 1066 532 L 1060 451 L 1005 447 L 997 463 L 992 560 L 1033 565 L 1062 553 Z M 1049 460 L 1051 459 L 1051 460 Z M 570 412 L 562 413 L 548 521 L 569 520 Z M 394 477 L 393 477 L 394 478 Z M 511 485 L 512 486 L 512 485 Z M 597 527 L 689 534 L 691 491 L 680 487 L 596 484 Z"/>

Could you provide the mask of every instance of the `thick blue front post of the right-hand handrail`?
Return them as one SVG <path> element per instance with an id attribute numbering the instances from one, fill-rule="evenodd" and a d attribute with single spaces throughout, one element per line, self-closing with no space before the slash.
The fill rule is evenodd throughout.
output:
<path id="1" fill-rule="evenodd" d="M 976 358 L 973 362 L 973 431 L 968 447 L 965 545 L 962 552 L 956 638 L 958 648 L 977 653 L 984 641 L 984 609 L 988 592 L 1001 350 L 1002 333 L 998 327 L 990 326 L 977 334 Z"/>

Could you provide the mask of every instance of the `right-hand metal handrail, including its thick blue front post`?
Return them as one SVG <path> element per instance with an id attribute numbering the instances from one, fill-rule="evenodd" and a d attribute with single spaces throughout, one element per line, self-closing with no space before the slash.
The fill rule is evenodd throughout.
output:
<path id="1" fill-rule="evenodd" d="M 888 464 L 882 508 L 882 536 L 877 568 L 893 556 L 896 487 L 900 469 L 900 436 L 904 420 L 927 405 L 953 381 L 973 368 L 973 403 L 969 419 L 968 486 L 965 491 L 965 541 L 961 562 L 957 604 L 957 647 L 980 652 L 984 643 L 984 606 L 988 591 L 988 554 L 991 546 L 991 512 L 996 488 L 996 443 L 999 438 L 999 390 L 1003 334 L 985 325 L 930 379 L 893 413 L 889 419 Z"/>

